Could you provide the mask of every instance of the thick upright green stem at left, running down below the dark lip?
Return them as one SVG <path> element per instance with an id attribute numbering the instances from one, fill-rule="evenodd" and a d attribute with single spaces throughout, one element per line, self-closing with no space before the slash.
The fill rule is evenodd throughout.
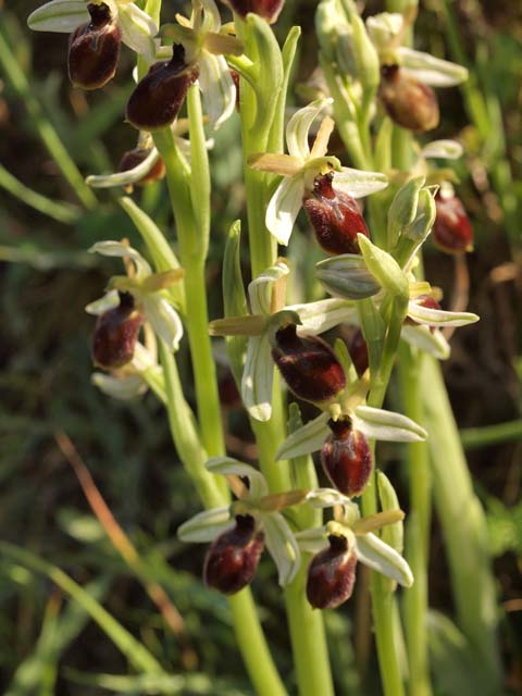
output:
<path id="1" fill-rule="evenodd" d="M 194 95 L 191 99 L 195 99 Z M 192 113 L 197 115 L 197 110 L 192 110 Z M 200 113 L 199 111 L 199 115 Z M 198 128 L 195 126 L 195 129 Z M 223 455 L 225 446 L 215 364 L 209 336 L 204 277 L 208 228 L 197 226 L 198 219 L 194 213 L 190 191 L 190 188 L 201 190 L 198 186 L 199 179 L 195 179 L 194 176 L 201 174 L 203 165 L 200 163 L 190 178 L 190 174 L 175 147 L 172 132 L 167 128 L 154 134 L 154 142 L 165 163 L 169 194 L 176 221 L 179 260 L 186 273 L 185 294 L 187 298 L 190 298 L 190 321 L 186 322 L 186 327 L 192 358 L 201 438 L 208 455 L 213 457 Z M 204 172 L 201 176 L 206 178 Z M 202 197 L 200 204 L 204 208 L 209 202 L 204 201 Z M 201 216 L 199 221 L 201 221 Z"/>

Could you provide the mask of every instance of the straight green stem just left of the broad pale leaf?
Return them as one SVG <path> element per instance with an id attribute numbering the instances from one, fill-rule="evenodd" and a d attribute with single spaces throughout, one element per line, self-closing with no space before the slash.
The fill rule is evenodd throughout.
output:
<path id="1" fill-rule="evenodd" d="M 423 423 L 420 371 L 424 356 L 413 353 L 406 343 L 399 350 L 399 375 L 403 412 L 417 423 Z M 410 667 L 409 693 L 431 696 L 427 657 L 427 557 L 431 522 L 430 451 L 426 443 L 407 446 L 407 475 L 410 482 L 410 512 L 406 527 L 406 560 L 415 582 L 405 594 L 405 623 Z"/>

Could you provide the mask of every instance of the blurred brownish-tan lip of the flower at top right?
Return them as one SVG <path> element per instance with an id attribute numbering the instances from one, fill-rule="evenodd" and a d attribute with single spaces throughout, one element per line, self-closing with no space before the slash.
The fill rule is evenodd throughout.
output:
<path id="1" fill-rule="evenodd" d="M 431 87 L 406 74 L 398 65 L 383 65 L 378 96 L 394 123 L 410 130 L 436 128 L 438 101 Z"/>

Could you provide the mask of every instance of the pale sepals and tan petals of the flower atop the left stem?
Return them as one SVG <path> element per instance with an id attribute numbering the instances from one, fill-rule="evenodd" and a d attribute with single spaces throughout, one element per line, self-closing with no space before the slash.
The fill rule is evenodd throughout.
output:
<path id="1" fill-rule="evenodd" d="M 220 33 L 221 17 L 214 0 L 192 0 L 191 18 L 176 14 L 176 20 L 177 25 L 166 25 L 162 32 L 183 45 L 187 63 L 199 65 L 203 105 L 211 126 L 217 129 L 236 104 L 236 88 L 224 55 L 241 55 L 243 44 Z"/>

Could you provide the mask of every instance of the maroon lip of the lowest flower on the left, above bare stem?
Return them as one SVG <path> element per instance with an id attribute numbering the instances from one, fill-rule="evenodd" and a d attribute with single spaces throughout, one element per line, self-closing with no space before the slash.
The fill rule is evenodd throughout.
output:
<path id="1" fill-rule="evenodd" d="M 233 595 L 253 579 L 264 550 L 264 534 L 256 532 L 256 520 L 238 514 L 236 526 L 219 536 L 204 560 L 203 579 L 209 587 Z"/>

